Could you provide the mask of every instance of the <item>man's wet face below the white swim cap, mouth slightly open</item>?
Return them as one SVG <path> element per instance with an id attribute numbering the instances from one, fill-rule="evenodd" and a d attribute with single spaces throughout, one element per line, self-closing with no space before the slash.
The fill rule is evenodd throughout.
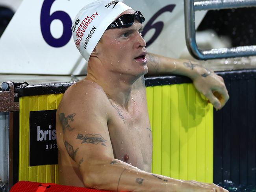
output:
<path id="1" fill-rule="evenodd" d="M 134 14 L 134 10 L 124 11 L 121 15 L 124 14 Z M 105 31 L 97 44 L 98 56 L 111 71 L 132 76 L 141 76 L 148 72 L 146 42 L 141 37 L 142 27 L 143 24 L 135 20 L 129 28 Z"/>

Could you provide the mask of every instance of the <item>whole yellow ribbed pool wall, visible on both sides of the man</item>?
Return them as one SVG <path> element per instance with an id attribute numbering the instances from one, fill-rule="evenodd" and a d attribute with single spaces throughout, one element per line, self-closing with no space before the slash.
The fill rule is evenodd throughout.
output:
<path id="1" fill-rule="evenodd" d="M 58 165 L 29 166 L 30 111 L 57 109 L 63 94 L 20 97 L 19 181 L 58 183 Z M 213 182 L 213 107 L 192 84 L 147 87 L 152 172 Z"/>

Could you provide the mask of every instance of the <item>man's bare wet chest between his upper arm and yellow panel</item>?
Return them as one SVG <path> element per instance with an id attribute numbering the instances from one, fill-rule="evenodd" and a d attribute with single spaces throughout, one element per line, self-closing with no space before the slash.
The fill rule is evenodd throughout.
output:
<path id="1" fill-rule="evenodd" d="M 112 103 L 113 114 L 108 122 L 114 157 L 137 168 L 150 171 L 152 162 L 152 133 L 147 102 L 133 100 L 129 111 Z"/>

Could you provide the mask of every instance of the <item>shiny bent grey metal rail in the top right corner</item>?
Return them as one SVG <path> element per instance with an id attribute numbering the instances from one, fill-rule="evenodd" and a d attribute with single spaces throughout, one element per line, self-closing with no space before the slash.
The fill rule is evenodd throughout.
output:
<path id="1" fill-rule="evenodd" d="M 256 6 L 256 0 L 184 0 L 186 44 L 189 53 L 200 60 L 256 55 L 256 45 L 200 50 L 195 29 L 195 11 L 253 6 Z"/>

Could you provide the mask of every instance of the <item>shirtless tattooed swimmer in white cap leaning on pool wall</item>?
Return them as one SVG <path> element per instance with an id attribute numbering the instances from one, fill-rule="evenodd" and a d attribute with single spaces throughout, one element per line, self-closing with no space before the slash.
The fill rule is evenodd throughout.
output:
<path id="1" fill-rule="evenodd" d="M 191 61 L 148 54 L 141 37 L 143 15 L 109 2 L 85 6 L 72 25 L 88 74 L 67 89 L 57 110 L 60 184 L 115 192 L 227 192 L 215 184 L 151 173 L 144 75 L 186 75 L 217 109 L 228 100 L 223 79 Z M 225 98 L 223 104 L 213 91 Z"/>

